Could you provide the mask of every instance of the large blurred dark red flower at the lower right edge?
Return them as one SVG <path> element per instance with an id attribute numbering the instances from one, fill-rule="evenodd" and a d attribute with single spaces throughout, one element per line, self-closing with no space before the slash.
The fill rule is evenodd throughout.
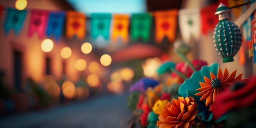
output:
<path id="1" fill-rule="evenodd" d="M 214 113 L 213 117 L 218 118 L 223 113 L 239 109 L 245 106 L 250 106 L 256 101 L 256 76 L 251 77 L 248 81 L 235 82 L 229 89 L 216 97 L 215 104 L 211 105 L 211 110 Z"/>

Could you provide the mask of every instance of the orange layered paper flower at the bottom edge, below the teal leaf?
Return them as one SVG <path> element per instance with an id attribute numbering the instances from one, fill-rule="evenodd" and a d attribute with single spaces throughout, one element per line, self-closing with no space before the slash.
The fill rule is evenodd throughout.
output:
<path id="1" fill-rule="evenodd" d="M 157 126 L 159 128 L 189 128 L 195 122 L 195 115 L 198 110 L 194 111 L 197 103 L 193 97 L 178 97 L 173 99 L 172 103 L 164 106 L 164 110 L 159 115 Z"/>

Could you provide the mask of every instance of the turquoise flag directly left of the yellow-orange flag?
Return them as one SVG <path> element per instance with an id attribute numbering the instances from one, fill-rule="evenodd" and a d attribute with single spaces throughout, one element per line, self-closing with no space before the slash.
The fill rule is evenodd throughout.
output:
<path id="1" fill-rule="evenodd" d="M 106 40 L 109 37 L 111 14 L 110 13 L 92 13 L 91 15 L 91 35 L 96 39 L 102 35 Z"/>

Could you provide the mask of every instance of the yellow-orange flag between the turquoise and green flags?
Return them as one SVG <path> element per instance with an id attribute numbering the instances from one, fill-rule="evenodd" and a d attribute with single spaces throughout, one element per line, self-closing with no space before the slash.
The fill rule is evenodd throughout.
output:
<path id="1" fill-rule="evenodd" d="M 117 37 L 121 36 L 123 42 L 127 43 L 129 15 L 114 14 L 113 18 L 114 18 L 114 22 L 113 22 L 113 31 L 112 31 L 112 41 L 117 42 Z"/>

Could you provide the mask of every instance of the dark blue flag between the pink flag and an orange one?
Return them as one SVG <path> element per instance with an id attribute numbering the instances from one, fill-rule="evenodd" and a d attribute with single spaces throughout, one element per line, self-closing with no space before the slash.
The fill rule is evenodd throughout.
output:
<path id="1" fill-rule="evenodd" d="M 49 37 L 53 34 L 53 36 L 55 36 L 56 41 L 60 40 L 64 20 L 65 20 L 65 12 L 64 11 L 50 12 L 48 26 L 46 29 L 47 37 Z"/>

